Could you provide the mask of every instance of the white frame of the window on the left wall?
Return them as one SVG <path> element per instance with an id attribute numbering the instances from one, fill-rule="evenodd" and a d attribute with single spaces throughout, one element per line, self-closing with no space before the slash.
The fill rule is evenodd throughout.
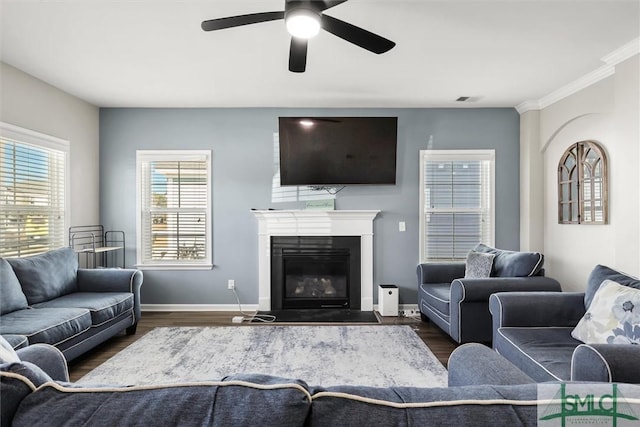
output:
<path id="1" fill-rule="evenodd" d="M 29 129 L 25 129 L 22 128 L 20 126 L 15 126 L 9 123 L 5 123 L 5 122 L 0 122 L 0 139 L 6 139 L 9 140 L 13 143 L 17 143 L 17 144 L 22 144 L 25 146 L 33 146 L 36 147 L 37 149 L 44 149 L 44 150 L 48 150 L 48 151 L 57 151 L 62 155 L 62 161 L 64 162 L 62 170 L 63 170 L 63 174 L 64 176 L 62 177 L 62 188 L 63 188 L 63 196 L 62 196 L 62 213 L 63 213 L 63 220 L 62 220 L 62 230 L 59 236 L 57 236 L 57 240 L 55 242 L 53 242 L 53 244 L 49 244 L 47 249 L 43 250 L 42 252 L 38 252 L 38 253 L 44 253 L 48 250 L 52 250 L 52 249 L 58 249 L 61 247 L 65 247 L 66 246 L 66 230 L 69 229 L 69 224 L 70 224 L 70 212 L 69 212 L 69 207 L 70 205 L 70 183 L 71 183 L 71 177 L 70 177 L 70 170 L 71 170 L 71 165 L 70 165 L 70 152 L 71 152 L 71 143 L 66 140 L 66 139 L 62 139 L 62 138 L 57 138 L 55 136 L 51 136 L 51 135 L 47 135 L 41 132 L 36 132 L 33 130 L 29 130 Z M 0 165 L 0 169 L 2 168 L 2 166 Z M 10 210 L 10 208 L 5 205 L 0 205 L 2 206 L 3 209 L 7 209 Z M 51 209 L 49 209 L 51 210 Z M 46 211 L 45 209 L 35 209 L 34 212 L 37 213 L 42 213 L 43 211 Z M 37 253 L 32 252 L 32 253 L 27 253 L 24 256 L 30 256 L 30 255 L 36 255 Z M 4 256 L 1 255 L 0 256 Z M 18 257 L 20 257 L 20 255 L 18 255 Z"/>

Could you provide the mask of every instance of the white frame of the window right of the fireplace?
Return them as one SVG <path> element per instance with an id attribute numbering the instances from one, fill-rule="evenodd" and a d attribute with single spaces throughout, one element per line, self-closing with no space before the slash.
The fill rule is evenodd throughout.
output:
<path id="1" fill-rule="evenodd" d="M 451 258 L 451 259 L 436 259 L 436 258 L 427 258 L 426 253 L 426 223 L 425 217 L 427 210 L 425 210 L 425 162 L 426 161 L 489 161 L 489 179 L 488 185 L 489 188 L 483 188 L 482 191 L 488 191 L 488 216 L 490 219 L 490 225 L 488 230 L 488 238 L 485 243 L 489 246 L 494 246 L 495 242 L 495 171 L 496 171 L 496 161 L 495 161 L 495 150 L 487 149 L 487 150 L 420 150 L 420 181 L 418 184 L 419 191 L 419 261 L 420 263 L 433 263 L 433 262 L 460 262 L 464 261 L 464 258 Z M 483 210 L 482 208 L 478 209 L 479 211 Z M 441 212 L 462 212 L 459 209 L 451 208 L 451 209 L 440 209 Z M 480 243 L 480 242 L 478 242 Z M 469 248 L 471 250 L 472 247 Z"/>

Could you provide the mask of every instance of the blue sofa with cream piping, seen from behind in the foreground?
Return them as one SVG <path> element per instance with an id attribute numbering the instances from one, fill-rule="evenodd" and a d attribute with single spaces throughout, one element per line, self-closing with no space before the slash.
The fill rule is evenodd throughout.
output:
<path id="1" fill-rule="evenodd" d="M 544 404 L 531 378 L 479 344 L 452 353 L 445 388 L 322 387 L 259 374 L 190 384 L 78 385 L 67 382 L 59 352 L 37 347 L 0 364 L 2 425 L 535 426 Z M 640 386 L 624 387 L 626 396 L 640 394 Z"/>

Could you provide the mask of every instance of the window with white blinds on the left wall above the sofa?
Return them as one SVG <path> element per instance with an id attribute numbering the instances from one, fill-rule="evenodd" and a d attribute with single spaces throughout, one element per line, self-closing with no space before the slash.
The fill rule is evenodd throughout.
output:
<path id="1" fill-rule="evenodd" d="M 69 142 L 0 123 L 0 257 L 65 246 Z"/>

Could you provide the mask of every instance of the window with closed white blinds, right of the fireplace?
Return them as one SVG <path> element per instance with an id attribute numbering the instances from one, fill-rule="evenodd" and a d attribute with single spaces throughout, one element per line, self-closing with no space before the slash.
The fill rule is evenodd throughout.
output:
<path id="1" fill-rule="evenodd" d="M 420 262 L 494 240 L 494 150 L 420 151 Z"/>

